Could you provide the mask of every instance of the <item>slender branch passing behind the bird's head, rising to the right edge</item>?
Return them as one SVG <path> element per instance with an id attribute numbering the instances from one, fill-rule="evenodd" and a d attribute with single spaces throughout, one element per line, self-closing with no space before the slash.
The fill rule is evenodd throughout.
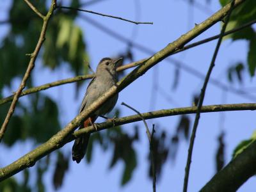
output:
<path id="1" fill-rule="evenodd" d="M 230 31 L 227 31 L 223 34 L 223 36 L 226 36 L 226 35 L 230 35 L 232 33 L 235 33 L 237 31 L 240 31 L 244 28 L 248 28 L 249 26 L 252 26 L 252 24 L 255 24 L 256 23 L 256 20 L 252 20 L 246 24 L 243 24 L 242 26 L 239 26 L 237 28 L 234 28 L 234 29 L 231 29 Z M 185 51 L 187 49 L 191 49 L 193 47 L 196 47 L 198 45 L 202 45 L 202 44 L 205 44 L 207 42 L 211 42 L 212 40 L 216 40 L 217 38 L 220 38 L 220 35 L 214 35 L 214 36 L 211 36 L 209 38 L 205 38 L 204 40 L 200 40 L 198 42 L 195 42 L 193 44 L 189 44 L 187 46 L 184 46 L 182 49 L 179 49 L 178 51 L 175 51 L 173 52 L 173 54 L 176 54 L 178 52 L 182 52 L 182 51 Z M 132 63 L 129 63 L 127 65 L 122 65 L 120 67 L 117 68 L 117 71 L 120 72 L 120 71 L 123 71 L 127 68 L 132 68 L 132 67 L 136 67 L 138 65 L 141 65 L 141 63 L 143 63 L 143 61 L 147 60 L 148 58 L 145 58 L 143 60 L 140 60 L 140 61 L 136 61 L 136 62 L 132 62 Z M 83 81 L 85 79 L 91 79 L 93 77 L 93 75 L 90 75 L 90 74 L 87 74 L 87 75 L 84 75 L 84 76 L 76 76 L 76 77 L 71 77 L 71 78 L 68 78 L 68 79 L 63 79 L 63 80 L 59 80 L 59 81 L 54 81 L 52 83 L 47 83 L 47 84 L 43 84 L 41 86 L 36 86 L 36 87 L 33 87 L 33 88 L 29 88 L 28 90 L 24 90 L 22 91 L 22 93 L 20 93 L 20 97 L 24 96 L 24 95 L 28 95 L 28 94 L 31 94 L 31 93 L 36 93 L 36 92 L 40 92 L 42 90 L 47 90 L 49 88 L 52 88 L 54 86 L 59 86 L 61 84 L 67 84 L 67 83 L 74 83 L 74 82 L 77 82 L 77 81 Z M 211 79 L 210 79 L 211 80 Z M 227 86 L 225 86 L 224 84 L 221 84 L 220 81 L 217 81 L 216 79 L 212 79 L 212 83 L 214 83 L 216 86 L 220 86 L 220 88 L 223 88 L 225 90 L 227 90 Z M 235 88 L 233 89 L 233 92 L 235 93 L 240 93 L 240 94 L 244 94 L 243 91 L 239 90 L 237 91 Z M 255 98 L 253 97 L 248 97 L 249 99 L 251 100 L 255 100 Z M 3 99 L 0 99 L 0 105 L 1 104 L 4 104 L 6 102 L 10 102 L 13 100 L 13 95 L 10 95 L 8 97 L 5 97 Z"/>

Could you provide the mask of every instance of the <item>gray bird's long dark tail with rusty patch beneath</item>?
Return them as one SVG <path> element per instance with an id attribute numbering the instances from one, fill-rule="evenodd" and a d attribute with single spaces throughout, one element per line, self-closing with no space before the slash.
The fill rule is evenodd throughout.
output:
<path id="1" fill-rule="evenodd" d="M 87 120 L 84 121 L 83 125 L 80 125 L 79 129 L 82 129 L 83 127 L 88 127 L 92 125 L 97 117 L 89 117 Z M 76 161 L 76 163 L 80 163 L 81 159 L 83 159 L 86 148 L 89 142 L 90 133 L 84 134 L 81 138 L 77 138 L 74 142 L 74 145 L 72 147 L 72 159 L 73 161 Z"/>

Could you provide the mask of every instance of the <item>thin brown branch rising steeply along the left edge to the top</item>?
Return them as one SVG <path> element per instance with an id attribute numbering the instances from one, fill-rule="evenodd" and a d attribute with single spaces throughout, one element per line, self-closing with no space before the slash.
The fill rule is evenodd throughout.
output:
<path id="1" fill-rule="evenodd" d="M 26 1 L 26 2 L 29 3 L 29 1 Z M 36 8 L 32 4 L 29 4 L 29 6 L 36 12 Z M 45 40 L 45 33 L 46 33 L 47 25 L 48 25 L 49 19 L 51 18 L 52 12 L 54 11 L 55 6 L 56 6 L 56 0 L 52 0 L 52 4 L 51 4 L 51 8 L 49 9 L 49 12 L 43 18 L 44 19 L 44 23 L 43 23 L 42 31 L 40 33 L 40 37 L 39 37 L 38 42 L 36 44 L 35 50 L 33 51 L 33 53 L 30 54 L 30 61 L 29 61 L 26 73 L 24 74 L 24 77 L 23 77 L 23 79 L 22 79 L 22 81 L 20 83 L 20 86 L 19 86 L 17 92 L 15 93 L 15 95 L 13 97 L 10 109 L 9 109 L 9 111 L 8 111 L 8 113 L 6 115 L 6 118 L 4 119 L 3 125 L 2 125 L 2 127 L 0 129 L 0 142 L 1 142 L 2 138 L 3 138 L 3 136 L 4 136 L 4 132 L 6 131 L 8 123 L 10 122 L 10 118 L 13 115 L 13 112 L 15 110 L 15 106 L 16 106 L 18 100 L 19 100 L 20 93 L 25 88 L 26 82 L 27 82 L 27 80 L 28 80 L 28 78 L 30 76 L 30 73 L 31 73 L 31 71 L 33 70 L 33 68 L 35 66 L 35 60 L 36 60 L 38 52 L 40 51 L 40 49 L 42 47 L 42 44 L 43 44 L 43 42 Z"/>

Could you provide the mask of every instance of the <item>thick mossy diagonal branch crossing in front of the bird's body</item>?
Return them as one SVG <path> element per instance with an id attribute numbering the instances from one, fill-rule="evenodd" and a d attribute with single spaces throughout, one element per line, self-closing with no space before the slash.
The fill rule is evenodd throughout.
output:
<path id="1" fill-rule="evenodd" d="M 235 6 L 238 6 L 244 1 L 245 0 L 236 0 Z M 151 67 L 164 60 L 164 58 L 168 57 L 175 50 L 179 49 L 179 47 L 183 47 L 190 40 L 200 35 L 200 33 L 203 33 L 216 22 L 220 21 L 225 15 L 227 15 L 228 10 L 230 10 L 230 4 L 227 4 L 221 8 L 221 10 L 216 12 L 209 19 L 205 20 L 201 24 L 198 24 L 194 29 L 185 35 L 182 35 L 180 38 L 175 40 L 175 42 L 167 45 L 164 49 L 154 54 L 154 56 L 145 61 L 142 65 L 135 68 L 128 76 L 124 77 L 124 79 L 116 83 L 115 86 L 112 86 L 108 92 L 104 93 L 99 99 L 95 100 L 95 102 L 93 102 L 86 111 L 83 111 L 77 115 L 76 118 L 68 123 L 63 130 L 52 136 L 49 141 L 40 145 L 38 148 L 32 152 L 29 152 L 26 156 L 21 157 L 9 166 L 6 166 L 6 168 L 1 169 L 0 172 L 2 173 L 2 176 L 0 177 L 0 180 L 6 179 L 7 177 L 14 175 L 15 173 L 18 173 L 29 166 L 33 166 L 38 159 L 46 156 L 53 150 L 56 150 L 56 148 L 60 148 L 65 144 L 65 140 L 70 137 L 71 132 L 74 131 L 84 119 L 88 118 L 93 111 L 96 111 L 100 106 L 102 106 L 106 100 L 113 97 L 113 95 L 116 93 L 122 91 L 125 87 L 138 79 L 138 77 L 145 74 L 145 72 L 147 72 L 147 70 L 149 70 Z"/>

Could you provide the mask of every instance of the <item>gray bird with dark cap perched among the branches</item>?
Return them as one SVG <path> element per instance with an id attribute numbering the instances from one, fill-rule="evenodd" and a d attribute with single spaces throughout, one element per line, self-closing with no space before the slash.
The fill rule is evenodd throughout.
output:
<path id="1" fill-rule="evenodd" d="M 93 77 L 92 81 L 87 87 L 79 113 L 86 110 L 88 106 L 90 106 L 95 100 L 97 100 L 103 93 L 108 91 L 109 88 L 111 88 L 111 86 L 116 83 L 116 65 L 121 60 L 122 58 L 103 58 L 102 60 L 100 60 L 100 63 L 95 73 L 95 77 Z M 97 109 L 97 111 L 95 111 L 93 115 L 84 120 L 84 122 L 81 123 L 79 129 L 92 125 L 98 118 L 98 116 L 103 116 L 111 111 L 114 108 L 117 99 L 118 94 L 111 97 L 105 104 L 100 106 L 100 108 Z M 79 163 L 81 159 L 83 159 L 84 154 L 86 153 L 89 138 L 90 134 L 85 134 L 81 138 L 77 138 L 75 140 L 72 147 L 72 159 L 73 161 L 76 161 L 76 163 Z"/>

